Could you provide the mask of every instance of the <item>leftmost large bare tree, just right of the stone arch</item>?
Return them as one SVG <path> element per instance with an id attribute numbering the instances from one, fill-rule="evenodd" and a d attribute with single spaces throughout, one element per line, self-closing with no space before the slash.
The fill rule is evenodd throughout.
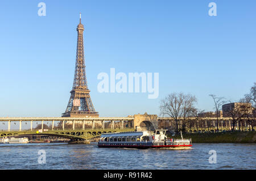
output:
<path id="1" fill-rule="evenodd" d="M 160 114 L 172 117 L 176 122 L 176 133 L 179 132 L 178 122 L 182 115 L 182 96 L 181 94 L 172 93 L 160 102 Z"/>

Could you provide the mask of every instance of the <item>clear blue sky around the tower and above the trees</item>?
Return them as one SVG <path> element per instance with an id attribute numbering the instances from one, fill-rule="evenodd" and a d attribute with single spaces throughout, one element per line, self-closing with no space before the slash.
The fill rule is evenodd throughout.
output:
<path id="1" fill-rule="evenodd" d="M 38 16 L 38 3 L 46 16 Z M 216 2 L 217 16 L 208 15 Z M 73 84 L 79 12 L 100 116 L 159 113 L 171 92 L 238 100 L 256 81 L 256 1 L 1 1 L 0 116 L 60 116 Z M 159 73 L 159 97 L 100 93 L 101 72 Z"/>

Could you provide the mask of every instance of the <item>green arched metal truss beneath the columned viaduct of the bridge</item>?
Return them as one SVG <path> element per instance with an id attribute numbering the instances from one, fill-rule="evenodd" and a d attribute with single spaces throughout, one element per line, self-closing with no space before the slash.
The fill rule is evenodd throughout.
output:
<path id="1" fill-rule="evenodd" d="M 89 140 L 100 137 L 102 133 L 131 132 L 134 129 L 88 129 L 88 130 L 60 130 L 60 131 L 0 131 L 0 138 L 13 136 L 26 136 L 31 134 L 59 136 L 71 140 Z"/>

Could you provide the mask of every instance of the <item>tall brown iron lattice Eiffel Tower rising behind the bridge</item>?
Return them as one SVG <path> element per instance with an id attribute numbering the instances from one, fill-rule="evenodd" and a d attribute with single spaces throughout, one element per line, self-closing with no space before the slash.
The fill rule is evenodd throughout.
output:
<path id="1" fill-rule="evenodd" d="M 84 26 L 80 23 L 77 30 L 76 69 L 71 96 L 66 111 L 62 117 L 98 117 L 90 99 L 87 86 L 84 59 Z"/>

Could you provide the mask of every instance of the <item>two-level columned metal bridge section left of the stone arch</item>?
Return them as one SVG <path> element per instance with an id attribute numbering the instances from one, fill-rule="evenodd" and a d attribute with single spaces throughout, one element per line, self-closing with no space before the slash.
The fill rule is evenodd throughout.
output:
<path id="1" fill-rule="evenodd" d="M 3 127 L 3 125 L 7 124 L 7 129 L 0 130 L 0 138 L 39 134 L 59 136 L 72 140 L 86 140 L 98 137 L 102 133 L 134 131 L 133 123 L 131 123 L 133 120 L 133 117 L 2 117 L 0 118 L 0 125 Z M 35 129 L 33 124 L 38 124 L 38 122 L 41 124 L 41 127 Z M 16 125 L 16 123 L 18 123 L 19 129 L 11 129 L 11 125 Z M 30 128 L 28 128 L 27 123 L 30 124 Z M 51 123 L 51 129 L 44 128 L 45 123 Z M 22 129 L 24 124 L 26 124 L 26 128 Z"/>

